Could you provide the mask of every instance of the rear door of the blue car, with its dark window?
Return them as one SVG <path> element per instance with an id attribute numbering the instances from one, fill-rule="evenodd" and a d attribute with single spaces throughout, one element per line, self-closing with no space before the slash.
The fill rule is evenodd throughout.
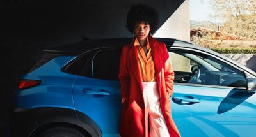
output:
<path id="1" fill-rule="evenodd" d="M 118 68 L 121 48 L 102 48 L 84 55 L 84 68 L 74 82 L 74 105 L 99 127 L 102 136 L 119 136 L 121 112 Z M 83 117 L 80 117 L 83 119 Z M 92 124 L 93 125 L 93 124 Z"/>

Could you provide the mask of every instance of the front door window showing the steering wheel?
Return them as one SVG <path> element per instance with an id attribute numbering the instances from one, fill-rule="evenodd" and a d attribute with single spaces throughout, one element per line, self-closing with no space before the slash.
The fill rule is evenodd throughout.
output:
<path id="1" fill-rule="evenodd" d="M 214 57 L 196 52 L 170 52 L 176 83 L 245 87 L 243 72 Z"/>

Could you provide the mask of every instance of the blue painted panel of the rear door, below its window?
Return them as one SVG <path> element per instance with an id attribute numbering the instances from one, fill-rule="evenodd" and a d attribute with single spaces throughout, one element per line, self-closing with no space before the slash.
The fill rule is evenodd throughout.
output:
<path id="1" fill-rule="evenodd" d="M 102 136 L 119 136 L 122 104 L 118 81 L 78 76 L 73 94 L 76 110 L 94 120 L 102 130 Z"/>

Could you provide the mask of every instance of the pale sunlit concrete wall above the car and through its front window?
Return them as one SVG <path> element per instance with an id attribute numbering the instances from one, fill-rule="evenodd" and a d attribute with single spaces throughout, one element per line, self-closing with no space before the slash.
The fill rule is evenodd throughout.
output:
<path id="1" fill-rule="evenodd" d="M 189 19 L 189 0 L 185 0 L 179 8 L 164 22 L 164 24 L 158 29 L 154 37 L 162 38 L 176 38 L 180 40 L 190 40 L 190 19 Z M 171 58 L 175 58 L 172 61 L 175 66 L 174 70 L 190 71 L 189 59 L 177 54 L 170 54 Z M 178 58 L 178 59 L 177 59 Z"/>

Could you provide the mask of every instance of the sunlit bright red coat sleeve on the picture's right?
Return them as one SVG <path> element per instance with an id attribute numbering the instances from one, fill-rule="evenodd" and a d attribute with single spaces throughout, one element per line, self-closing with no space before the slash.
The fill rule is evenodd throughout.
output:
<path id="1" fill-rule="evenodd" d="M 172 62 L 168 54 L 168 50 L 166 45 L 163 43 L 163 65 L 164 65 L 164 80 L 166 92 L 172 96 L 173 93 L 173 80 L 174 80 L 174 72 L 172 68 Z"/>

